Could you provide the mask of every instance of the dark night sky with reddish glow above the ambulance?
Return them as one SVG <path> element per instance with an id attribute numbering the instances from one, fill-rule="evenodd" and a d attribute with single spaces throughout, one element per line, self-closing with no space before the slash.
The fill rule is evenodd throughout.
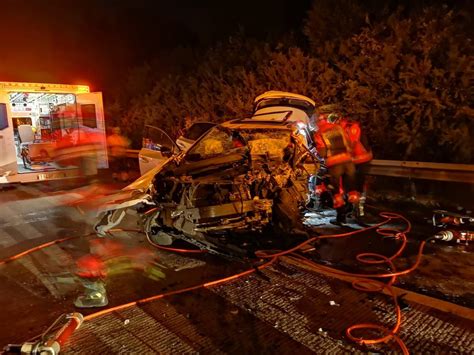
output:
<path id="1" fill-rule="evenodd" d="M 2 0 L 0 81 L 110 87 L 180 45 L 300 31 L 310 0 Z M 163 54 L 160 54 L 161 56 Z M 159 58 L 158 58 L 159 60 Z"/>

